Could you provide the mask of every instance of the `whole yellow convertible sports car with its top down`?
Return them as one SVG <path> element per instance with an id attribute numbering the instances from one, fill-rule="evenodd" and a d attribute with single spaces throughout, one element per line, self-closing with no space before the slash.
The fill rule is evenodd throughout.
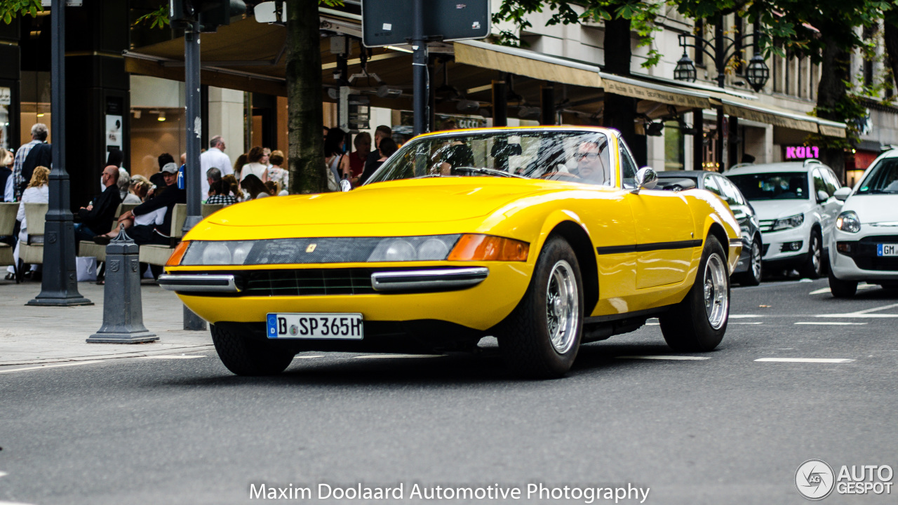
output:
<path id="1" fill-rule="evenodd" d="M 717 347 L 742 239 L 705 190 L 654 190 L 609 128 L 416 137 L 364 186 L 225 208 L 159 283 L 212 324 L 233 373 L 304 350 L 473 350 L 525 377 L 658 317 L 674 350 Z"/>

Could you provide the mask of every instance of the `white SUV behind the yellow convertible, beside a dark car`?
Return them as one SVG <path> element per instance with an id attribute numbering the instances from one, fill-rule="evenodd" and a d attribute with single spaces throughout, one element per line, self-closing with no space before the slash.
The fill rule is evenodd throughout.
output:
<path id="1" fill-rule="evenodd" d="M 752 202 L 761 223 L 765 269 L 823 275 L 826 248 L 842 202 L 841 183 L 817 160 L 741 166 L 724 173 Z"/>

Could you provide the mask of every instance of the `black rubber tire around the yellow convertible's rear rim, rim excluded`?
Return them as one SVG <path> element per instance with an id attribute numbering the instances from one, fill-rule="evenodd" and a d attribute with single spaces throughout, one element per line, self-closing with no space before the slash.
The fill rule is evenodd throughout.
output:
<path id="1" fill-rule="evenodd" d="M 717 256 L 723 262 L 726 270 L 726 251 L 714 235 L 709 235 L 705 240 L 705 247 L 701 252 L 699 271 L 696 273 L 695 282 L 682 302 L 672 307 L 665 314 L 658 316 L 661 323 L 661 332 L 665 336 L 667 345 L 680 352 L 707 352 L 714 350 L 724 338 L 726 324 L 729 322 L 729 276 L 723 275 L 719 281 L 726 284 L 726 306 L 722 307 L 723 321 L 718 322 L 717 327 L 709 321 L 708 312 L 705 310 L 705 282 L 707 281 L 708 262 L 712 256 Z"/>

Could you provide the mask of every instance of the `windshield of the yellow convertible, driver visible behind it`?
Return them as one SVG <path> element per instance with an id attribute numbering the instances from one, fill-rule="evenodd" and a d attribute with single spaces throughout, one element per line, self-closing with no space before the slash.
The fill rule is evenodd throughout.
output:
<path id="1" fill-rule="evenodd" d="M 608 137 L 594 131 L 481 131 L 409 141 L 368 184 L 419 177 L 524 177 L 611 186 Z"/>

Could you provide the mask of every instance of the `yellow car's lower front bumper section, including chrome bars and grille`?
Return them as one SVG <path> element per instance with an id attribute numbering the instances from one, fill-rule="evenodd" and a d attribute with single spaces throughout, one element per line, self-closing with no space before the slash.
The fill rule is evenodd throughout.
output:
<path id="1" fill-rule="evenodd" d="M 160 283 L 213 324 L 264 323 L 272 313 L 361 313 L 365 323 L 440 321 L 485 331 L 517 306 L 533 273 L 529 263 L 499 261 L 402 269 L 316 266 L 321 268 L 177 268 Z M 427 271 L 446 275 L 421 273 Z M 216 279 L 216 287 L 204 288 L 198 282 L 204 275 Z"/>

